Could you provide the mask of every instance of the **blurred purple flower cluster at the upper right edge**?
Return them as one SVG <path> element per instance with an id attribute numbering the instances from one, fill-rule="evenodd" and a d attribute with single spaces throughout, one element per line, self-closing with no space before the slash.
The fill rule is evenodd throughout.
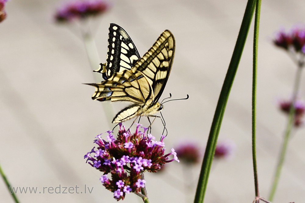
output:
<path id="1" fill-rule="evenodd" d="M 281 30 L 276 34 L 273 43 L 287 51 L 293 48 L 295 52 L 305 53 L 305 27 L 296 27 L 290 32 Z"/>

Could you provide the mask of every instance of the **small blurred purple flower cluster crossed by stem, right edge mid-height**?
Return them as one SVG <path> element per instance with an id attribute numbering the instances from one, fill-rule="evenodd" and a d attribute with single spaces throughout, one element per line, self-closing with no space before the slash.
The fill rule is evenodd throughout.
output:
<path id="1" fill-rule="evenodd" d="M 279 102 L 280 109 L 289 114 L 291 101 L 282 100 Z M 294 126 L 298 127 L 303 124 L 303 116 L 305 113 L 305 103 L 301 100 L 296 100 L 294 103 L 295 114 L 294 114 Z"/>

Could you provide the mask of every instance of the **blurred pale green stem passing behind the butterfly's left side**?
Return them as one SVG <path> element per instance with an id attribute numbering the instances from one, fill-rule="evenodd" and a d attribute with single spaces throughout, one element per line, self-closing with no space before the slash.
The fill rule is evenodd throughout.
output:
<path id="1" fill-rule="evenodd" d="M 97 70 L 97 69 L 99 69 L 100 60 L 99 60 L 99 55 L 98 55 L 97 48 L 95 46 L 95 42 L 92 37 L 92 34 L 90 32 L 83 32 L 82 36 L 83 36 L 86 53 L 87 53 L 92 71 Z M 96 73 L 93 75 L 94 75 L 94 79 L 96 82 L 101 81 L 101 77 L 98 77 L 98 76 L 101 76 L 102 74 Z M 110 105 L 110 103 L 107 103 L 107 102 L 104 102 L 102 104 L 102 106 L 103 106 L 104 112 L 107 117 L 109 128 L 111 128 L 111 126 L 112 126 L 111 121 L 113 119 L 113 116 L 115 115 L 113 112 L 113 108 Z"/>

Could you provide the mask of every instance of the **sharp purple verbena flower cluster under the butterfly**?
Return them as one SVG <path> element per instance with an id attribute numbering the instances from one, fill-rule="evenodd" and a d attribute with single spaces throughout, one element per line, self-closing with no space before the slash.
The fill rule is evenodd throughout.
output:
<path id="1" fill-rule="evenodd" d="M 112 131 L 107 131 L 108 141 L 97 135 L 94 143 L 98 147 L 84 156 L 91 166 L 104 173 L 100 180 L 117 200 L 124 199 L 125 194 L 131 192 L 139 193 L 145 187 L 141 173 L 157 172 L 165 163 L 174 160 L 179 162 L 174 149 L 164 155 L 165 136 L 162 135 L 161 141 L 156 141 L 151 134 L 145 135 L 148 128 L 142 127 L 144 131 L 139 131 L 140 126 L 137 124 L 135 133 L 131 133 L 120 123 L 117 138 L 112 135 Z M 168 160 L 170 155 L 174 158 Z"/>

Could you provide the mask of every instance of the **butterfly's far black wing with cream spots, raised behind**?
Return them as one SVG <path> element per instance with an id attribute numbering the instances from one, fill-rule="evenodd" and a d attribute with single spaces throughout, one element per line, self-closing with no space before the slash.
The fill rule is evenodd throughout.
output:
<path id="1" fill-rule="evenodd" d="M 127 32 L 115 23 L 110 23 L 106 64 L 100 64 L 95 72 L 102 73 L 106 80 L 116 72 L 130 70 L 140 58 L 135 44 Z"/>

